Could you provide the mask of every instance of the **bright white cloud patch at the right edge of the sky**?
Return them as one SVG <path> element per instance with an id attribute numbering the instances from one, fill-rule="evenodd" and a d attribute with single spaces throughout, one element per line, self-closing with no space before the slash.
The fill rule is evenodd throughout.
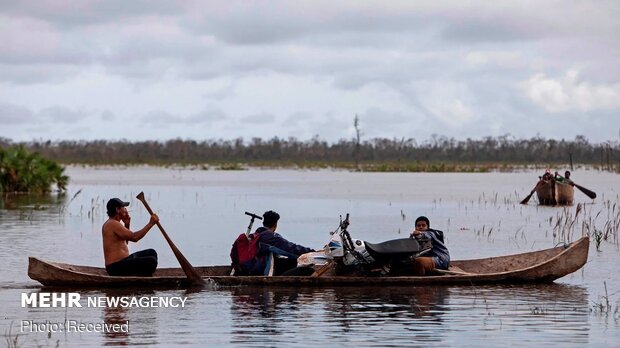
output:
<path id="1" fill-rule="evenodd" d="M 593 84 L 579 79 L 576 70 L 564 77 L 536 74 L 521 83 L 527 97 L 551 113 L 620 108 L 620 83 Z"/>

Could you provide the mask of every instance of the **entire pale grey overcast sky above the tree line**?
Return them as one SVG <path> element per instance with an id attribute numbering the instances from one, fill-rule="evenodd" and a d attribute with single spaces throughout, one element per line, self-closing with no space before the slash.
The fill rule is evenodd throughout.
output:
<path id="1" fill-rule="evenodd" d="M 620 1 L 0 0 L 0 137 L 618 141 Z"/>

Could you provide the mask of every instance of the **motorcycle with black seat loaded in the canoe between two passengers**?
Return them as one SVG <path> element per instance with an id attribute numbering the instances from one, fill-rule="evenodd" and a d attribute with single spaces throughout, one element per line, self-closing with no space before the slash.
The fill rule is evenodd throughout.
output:
<path id="1" fill-rule="evenodd" d="M 399 238 L 381 243 L 353 239 L 348 231 L 347 213 L 322 252 L 301 255 L 298 266 L 334 266 L 336 275 L 385 276 L 406 275 L 413 270 L 415 258 L 431 250 L 431 241 L 420 238 Z"/>

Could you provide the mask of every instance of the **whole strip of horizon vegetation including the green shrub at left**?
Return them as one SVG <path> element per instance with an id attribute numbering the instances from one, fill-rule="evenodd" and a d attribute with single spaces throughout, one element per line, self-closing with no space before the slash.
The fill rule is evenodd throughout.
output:
<path id="1" fill-rule="evenodd" d="M 357 129 L 357 128 L 356 128 Z M 514 139 L 508 135 L 481 140 L 433 136 L 415 139 L 358 136 L 328 143 L 318 137 L 269 140 L 173 139 L 168 141 L 32 141 L 14 143 L 0 138 L 0 192 L 48 193 L 55 185 L 65 191 L 69 178 L 63 165 L 149 165 L 201 170 L 339 169 L 360 172 L 519 171 L 575 167 L 620 173 L 620 142 L 591 144 L 541 137 Z"/>

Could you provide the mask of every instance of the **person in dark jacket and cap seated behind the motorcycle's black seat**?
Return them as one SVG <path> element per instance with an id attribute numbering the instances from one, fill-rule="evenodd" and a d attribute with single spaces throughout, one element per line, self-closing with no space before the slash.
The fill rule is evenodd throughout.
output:
<path id="1" fill-rule="evenodd" d="M 427 254 L 415 259 L 413 264 L 415 275 L 432 274 L 436 269 L 447 270 L 450 266 L 450 253 L 444 244 L 443 232 L 430 227 L 428 218 L 420 216 L 415 220 L 415 229 L 411 232 L 411 238 L 428 238 L 432 245 Z"/>

